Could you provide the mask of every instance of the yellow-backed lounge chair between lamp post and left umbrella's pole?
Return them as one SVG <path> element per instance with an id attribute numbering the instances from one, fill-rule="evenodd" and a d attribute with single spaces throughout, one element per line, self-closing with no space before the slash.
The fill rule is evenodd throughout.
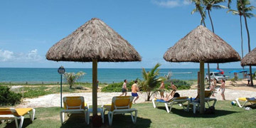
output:
<path id="1" fill-rule="evenodd" d="M 88 106 L 84 97 L 63 97 L 64 110 L 60 111 L 60 122 L 63 124 L 65 113 L 82 113 L 85 114 L 85 122 Z"/>

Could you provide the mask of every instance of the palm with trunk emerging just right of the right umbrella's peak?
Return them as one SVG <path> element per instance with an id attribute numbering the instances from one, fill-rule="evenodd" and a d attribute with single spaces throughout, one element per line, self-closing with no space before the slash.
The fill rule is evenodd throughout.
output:
<path id="1" fill-rule="evenodd" d="M 218 5 L 225 0 L 203 0 L 203 5 L 206 6 L 206 10 L 208 11 L 208 16 L 210 18 L 210 24 L 212 26 L 212 30 L 214 33 L 213 20 L 210 16 L 210 11 L 213 9 L 228 9 L 226 6 Z M 217 63 L 217 69 L 219 69 L 219 64 Z"/>

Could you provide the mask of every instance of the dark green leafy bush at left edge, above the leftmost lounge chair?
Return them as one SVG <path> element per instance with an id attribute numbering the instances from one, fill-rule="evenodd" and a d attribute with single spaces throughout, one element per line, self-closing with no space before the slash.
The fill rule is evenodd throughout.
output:
<path id="1" fill-rule="evenodd" d="M 15 105 L 21 102 L 21 94 L 11 92 L 10 87 L 0 86 L 0 105 Z"/>

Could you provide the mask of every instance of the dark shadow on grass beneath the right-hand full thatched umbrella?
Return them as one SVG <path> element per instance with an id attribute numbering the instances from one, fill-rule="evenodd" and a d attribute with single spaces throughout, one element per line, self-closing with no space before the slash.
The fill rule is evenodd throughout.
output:
<path id="1" fill-rule="evenodd" d="M 157 107 L 160 110 L 165 110 L 166 107 Z M 215 114 L 199 114 L 198 111 L 196 111 L 196 114 L 193 114 L 193 110 L 189 109 L 189 112 L 184 111 L 183 109 L 176 109 L 175 107 L 171 108 L 170 114 L 178 114 L 181 117 L 204 117 L 204 118 L 215 118 L 215 117 L 221 117 L 228 114 L 234 114 L 237 113 L 235 111 L 227 111 L 227 110 L 215 110 Z"/>

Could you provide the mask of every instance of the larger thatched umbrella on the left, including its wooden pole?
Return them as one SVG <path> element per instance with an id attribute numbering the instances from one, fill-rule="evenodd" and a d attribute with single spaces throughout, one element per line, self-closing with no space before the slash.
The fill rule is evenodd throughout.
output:
<path id="1" fill-rule="evenodd" d="M 97 62 L 141 61 L 137 50 L 110 26 L 92 18 L 55 43 L 46 53 L 48 60 L 92 62 L 92 114 L 97 115 Z"/>

